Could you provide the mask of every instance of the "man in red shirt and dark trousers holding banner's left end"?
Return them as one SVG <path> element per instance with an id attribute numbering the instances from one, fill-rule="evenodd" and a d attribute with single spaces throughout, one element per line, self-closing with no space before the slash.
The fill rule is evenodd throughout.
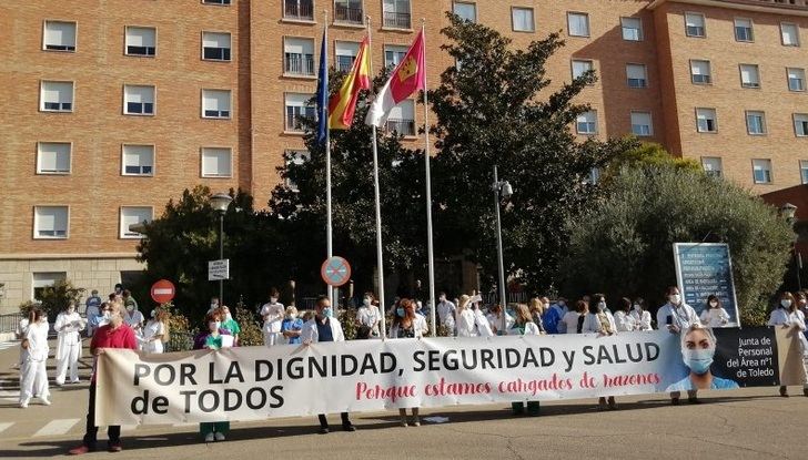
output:
<path id="1" fill-rule="evenodd" d="M 111 303 L 104 306 L 109 315 L 109 324 L 99 327 L 95 335 L 90 340 L 90 354 L 94 356 L 92 366 L 92 377 L 90 378 L 90 401 L 87 412 L 87 432 L 81 446 L 71 449 L 70 454 L 79 456 L 95 450 L 98 443 L 98 427 L 95 426 L 95 369 L 98 368 L 98 356 L 103 355 L 107 348 L 127 348 L 130 350 L 138 349 L 138 340 L 134 337 L 132 328 L 123 323 L 121 315 L 121 305 Z M 110 452 L 120 452 L 121 447 L 121 427 L 107 427 L 109 436 L 108 449 Z"/>

